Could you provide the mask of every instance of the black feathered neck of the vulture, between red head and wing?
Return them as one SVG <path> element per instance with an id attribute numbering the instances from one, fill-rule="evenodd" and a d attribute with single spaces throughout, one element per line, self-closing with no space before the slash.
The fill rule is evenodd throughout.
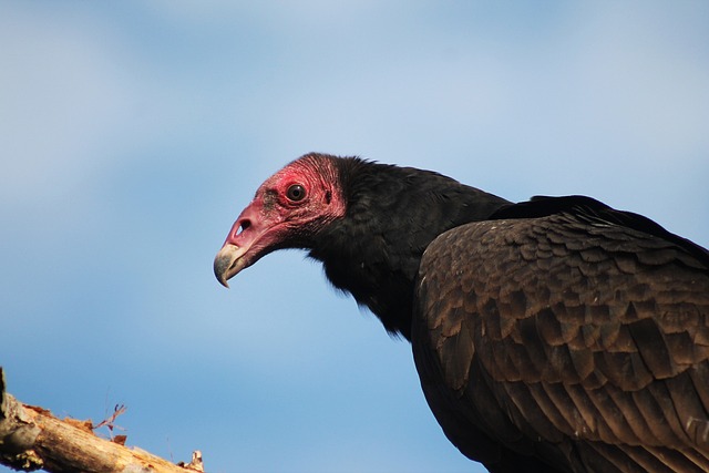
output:
<path id="1" fill-rule="evenodd" d="M 510 203 L 429 171 L 359 158 L 337 166 L 347 212 L 315 237 L 310 256 L 387 331 L 411 340 L 414 280 L 428 245 Z"/>

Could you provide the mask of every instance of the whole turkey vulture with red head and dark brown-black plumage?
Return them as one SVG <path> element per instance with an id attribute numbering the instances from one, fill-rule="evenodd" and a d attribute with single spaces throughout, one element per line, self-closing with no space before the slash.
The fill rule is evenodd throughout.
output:
<path id="1" fill-rule="evenodd" d="M 445 435 L 491 472 L 709 471 L 709 251 L 653 220 L 312 153 L 258 188 L 216 277 L 281 248 L 411 341 Z"/>

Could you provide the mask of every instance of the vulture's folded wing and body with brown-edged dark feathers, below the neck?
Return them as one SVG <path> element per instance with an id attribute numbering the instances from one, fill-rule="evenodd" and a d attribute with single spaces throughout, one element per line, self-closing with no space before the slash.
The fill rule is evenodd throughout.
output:
<path id="1" fill-rule="evenodd" d="M 429 246 L 412 340 L 429 404 L 492 471 L 709 471 L 709 254 L 569 204 Z"/>

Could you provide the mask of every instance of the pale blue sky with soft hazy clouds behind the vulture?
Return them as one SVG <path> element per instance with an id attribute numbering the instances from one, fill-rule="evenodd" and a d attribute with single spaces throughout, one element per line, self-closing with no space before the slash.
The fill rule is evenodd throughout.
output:
<path id="1" fill-rule="evenodd" d="M 705 1 L 0 0 L 11 393 L 210 472 L 482 471 L 298 251 L 212 261 L 310 151 L 586 194 L 709 245 Z M 6 471 L 0 467 L 0 471 Z"/>

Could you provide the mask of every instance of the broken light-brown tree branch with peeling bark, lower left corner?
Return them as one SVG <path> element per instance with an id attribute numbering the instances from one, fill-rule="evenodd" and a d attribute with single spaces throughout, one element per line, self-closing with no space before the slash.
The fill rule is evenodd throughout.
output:
<path id="1" fill-rule="evenodd" d="M 114 414 L 117 415 L 117 411 Z M 112 422 L 112 419 L 110 422 Z M 45 409 L 23 404 L 6 392 L 0 368 L 0 464 L 51 473 L 188 473 L 204 471 L 202 453 L 175 465 L 119 439 L 101 439 L 91 421 L 56 419 Z"/>

